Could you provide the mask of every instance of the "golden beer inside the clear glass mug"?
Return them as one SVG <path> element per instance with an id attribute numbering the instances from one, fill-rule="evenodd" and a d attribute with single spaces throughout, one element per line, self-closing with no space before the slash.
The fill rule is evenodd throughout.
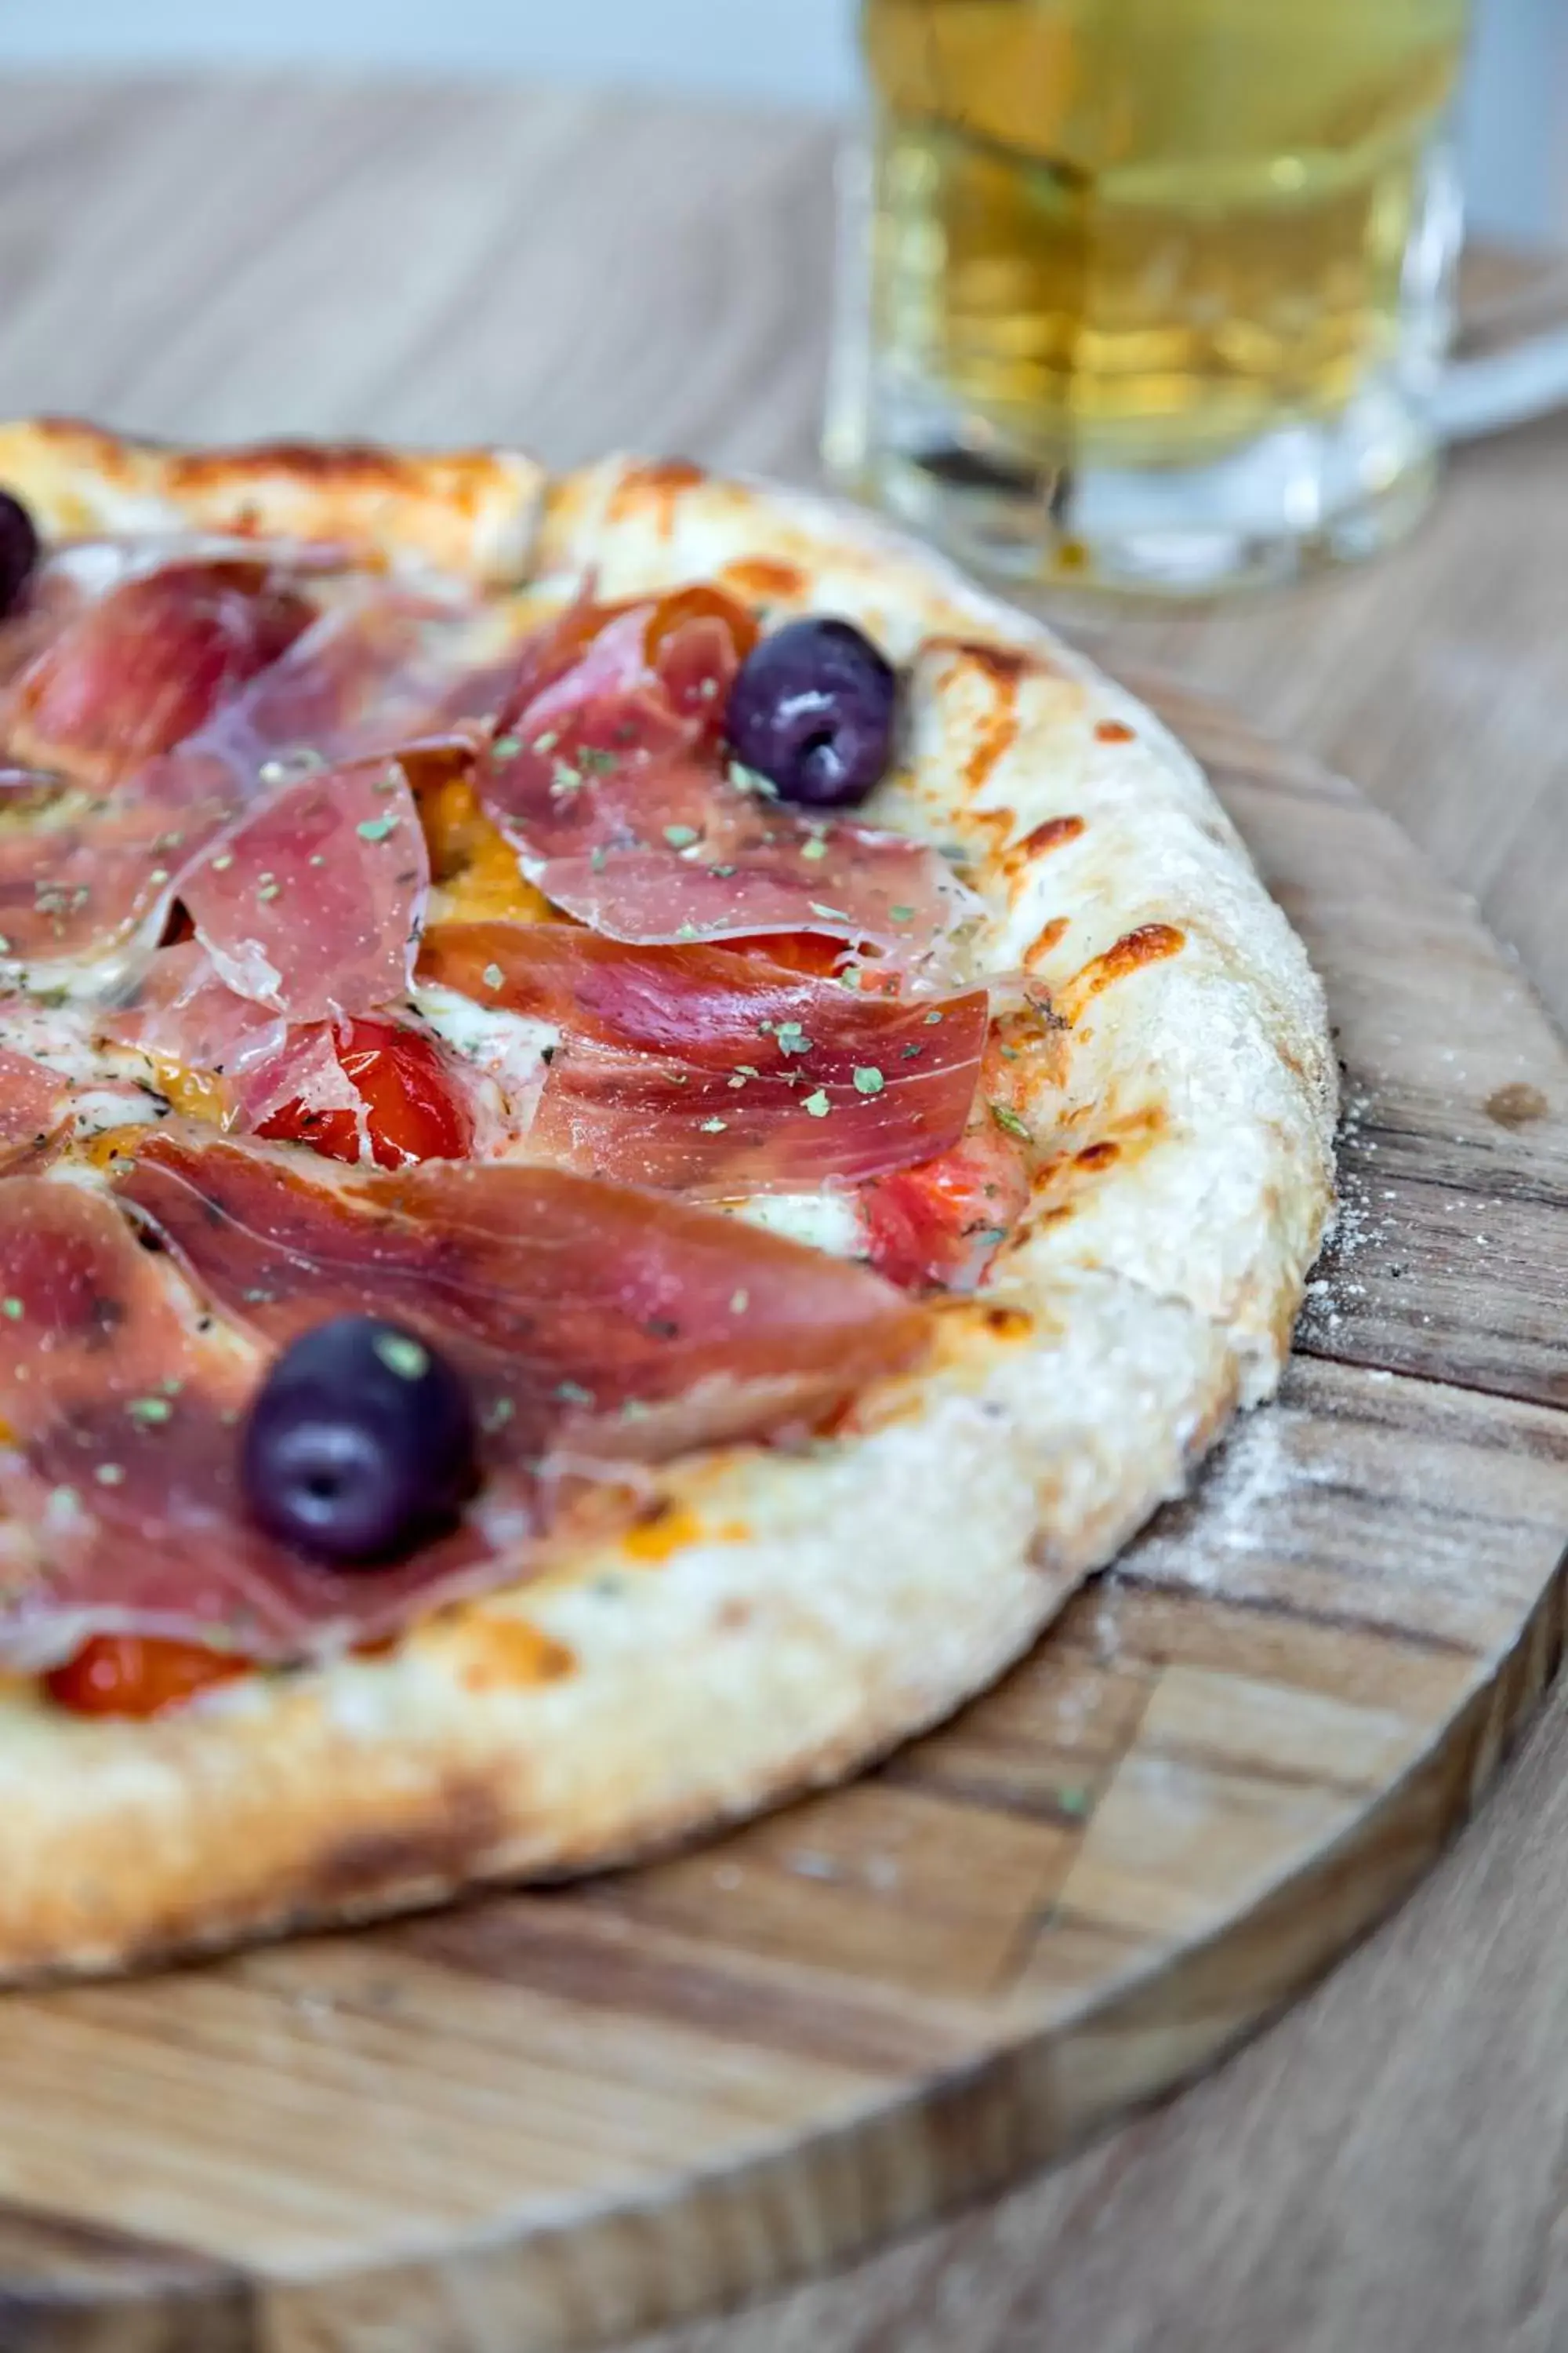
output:
<path id="1" fill-rule="evenodd" d="M 1465 21 L 1467 0 L 865 0 L 865 332 L 898 456 L 950 487 L 1201 468 L 1432 367 Z"/>

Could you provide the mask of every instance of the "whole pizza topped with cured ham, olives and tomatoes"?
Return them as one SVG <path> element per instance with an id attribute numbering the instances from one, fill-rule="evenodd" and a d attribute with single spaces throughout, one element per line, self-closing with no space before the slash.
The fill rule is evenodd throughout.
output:
<path id="1" fill-rule="evenodd" d="M 5 1979 L 832 1784 L 1272 1393 L 1321 991 L 1034 621 L 686 464 L 0 485 Z"/>

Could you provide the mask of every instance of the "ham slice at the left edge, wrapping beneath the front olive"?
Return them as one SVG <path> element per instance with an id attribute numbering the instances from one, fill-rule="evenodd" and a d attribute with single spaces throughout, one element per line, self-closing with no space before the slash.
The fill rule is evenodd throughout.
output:
<path id="1" fill-rule="evenodd" d="M 237 1438 L 266 1348 L 197 1334 L 103 1195 L 38 1176 L 0 1184 L 0 1654 L 12 1666 L 54 1666 L 103 1633 L 299 1659 L 376 1640 L 494 1581 L 477 1518 L 353 1577 L 273 1544 L 244 1508 Z"/>

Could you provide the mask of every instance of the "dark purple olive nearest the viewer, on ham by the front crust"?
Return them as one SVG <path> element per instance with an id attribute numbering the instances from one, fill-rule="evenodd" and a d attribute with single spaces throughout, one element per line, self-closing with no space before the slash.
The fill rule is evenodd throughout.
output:
<path id="1" fill-rule="evenodd" d="M 395 1560 L 475 1480 L 475 1414 L 423 1339 L 339 1315 L 273 1365 L 244 1426 L 244 1494 L 284 1544 L 339 1567 Z"/>

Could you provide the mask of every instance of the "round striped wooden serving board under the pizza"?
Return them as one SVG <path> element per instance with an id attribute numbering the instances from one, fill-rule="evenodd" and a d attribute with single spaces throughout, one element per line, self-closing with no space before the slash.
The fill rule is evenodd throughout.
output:
<path id="1" fill-rule="evenodd" d="M 1347 784 L 1145 689 L 1328 981 L 1279 1405 L 957 1722 L 654 1868 L 0 2000 L 0 2348 L 564 2353 L 1164 2092 L 1483 1793 L 1563 1628 L 1568 1054 Z"/>

